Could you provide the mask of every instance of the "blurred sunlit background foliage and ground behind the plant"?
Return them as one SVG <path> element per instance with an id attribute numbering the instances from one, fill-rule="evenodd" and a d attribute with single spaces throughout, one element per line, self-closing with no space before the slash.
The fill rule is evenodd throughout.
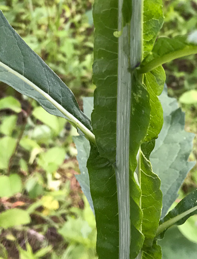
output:
<path id="1" fill-rule="evenodd" d="M 74 92 L 81 109 L 82 96 L 93 96 L 95 89 L 92 4 L 0 0 L 9 23 Z M 164 0 L 164 15 L 160 36 L 190 33 L 197 29 L 197 0 Z M 197 56 L 164 68 L 168 93 L 186 112 L 186 130 L 197 134 Z M 1 259 L 97 258 L 94 215 L 74 176 L 79 173 L 74 135 L 76 130 L 65 119 L 0 83 Z M 197 159 L 197 140 L 191 159 Z M 197 167 L 175 203 L 196 187 Z M 176 258 L 185 240 L 194 252 L 190 258 L 196 259 L 197 217 L 176 227 L 168 240 L 173 233 L 176 245 L 170 247 L 172 241 L 166 239 L 162 243 L 164 259 Z"/>

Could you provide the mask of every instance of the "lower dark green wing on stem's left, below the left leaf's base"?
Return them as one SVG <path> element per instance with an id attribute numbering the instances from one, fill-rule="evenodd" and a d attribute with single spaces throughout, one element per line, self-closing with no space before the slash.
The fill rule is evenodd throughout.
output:
<path id="1" fill-rule="evenodd" d="M 97 222 L 99 259 L 119 258 L 119 217 L 115 168 L 92 146 L 87 162 Z"/>

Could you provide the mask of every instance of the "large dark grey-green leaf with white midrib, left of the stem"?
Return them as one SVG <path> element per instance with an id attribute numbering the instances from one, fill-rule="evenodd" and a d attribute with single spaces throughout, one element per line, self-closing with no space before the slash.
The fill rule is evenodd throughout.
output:
<path id="1" fill-rule="evenodd" d="M 90 120 L 74 95 L 9 25 L 0 11 L 0 80 L 35 99 L 49 113 L 67 118 L 95 143 Z"/>

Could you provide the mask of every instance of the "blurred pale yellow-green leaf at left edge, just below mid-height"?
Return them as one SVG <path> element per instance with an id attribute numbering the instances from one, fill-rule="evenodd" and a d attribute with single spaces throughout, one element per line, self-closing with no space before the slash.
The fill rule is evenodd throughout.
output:
<path id="1" fill-rule="evenodd" d="M 14 153 L 16 140 L 10 137 L 0 139 L 0 169 L 7 169 L 9 159 Z"/>

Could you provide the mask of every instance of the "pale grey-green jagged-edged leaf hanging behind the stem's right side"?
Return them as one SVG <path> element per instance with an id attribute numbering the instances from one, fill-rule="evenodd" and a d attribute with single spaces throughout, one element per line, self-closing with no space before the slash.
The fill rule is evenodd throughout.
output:
<path id="1" fill-rule="evenodd" d="M 185 115 L 178 108 L 176 99 L 167 96 L 166 87 L 159 98 L 164 108 L 164 125 L 155 148 L 152 146 L 154 149 L 150 161 L 153 171 L 161 179 L 164 217 L 176 199 L 187 173 L 195 165 L 195 162 L 187 161 L 192 151 L 194 134 L 184 130 Z"/>

